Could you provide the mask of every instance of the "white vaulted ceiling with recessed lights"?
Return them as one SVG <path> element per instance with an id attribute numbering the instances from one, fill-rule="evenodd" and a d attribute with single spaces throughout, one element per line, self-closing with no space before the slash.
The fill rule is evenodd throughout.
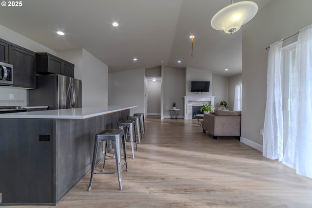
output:
<path id="1" fill-rule="evenodd" d="M 270 0 L 253 1 L 260 10 Z M 0 24 L 56 52 L 84 48 L 107 64 L 109 72 L 159 67 L 160 61 L 165 67 L 206 69 L 221 76 L 241 72 L 242 30 L 230 35 L 210 24 L 231 0 L 22 3 L 21 7 L 1 6 Z M 119 22 L 118 27 L 112 26 L 114 21 Z M 65 36 L 57 35 L 58 30 Z M 193 57 L 190 35 L 195 36 Z M 224 71 L 226 68 L 229 71 Z"/>

